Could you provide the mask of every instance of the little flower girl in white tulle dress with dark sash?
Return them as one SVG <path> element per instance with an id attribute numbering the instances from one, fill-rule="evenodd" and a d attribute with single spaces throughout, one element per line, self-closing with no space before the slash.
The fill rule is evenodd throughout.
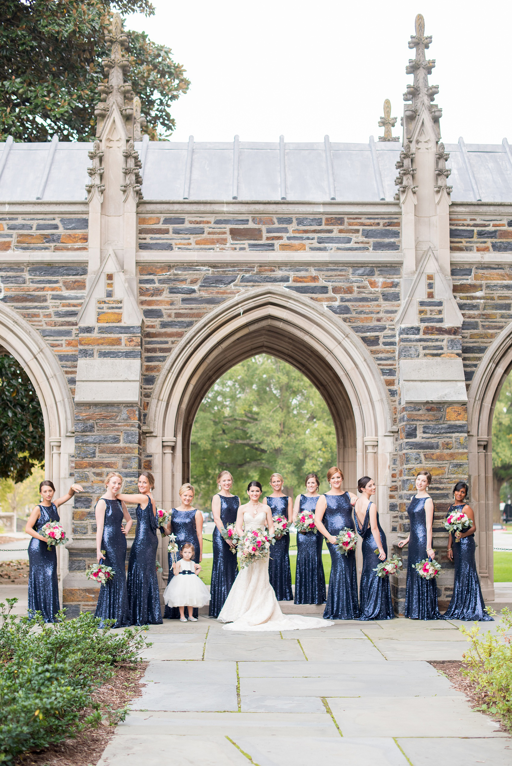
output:
<path id="1" fill-rule="evenodd" d="M 174 575 L 184 576 L 172 578 L 163 591 L 163 600 L 169 607 L 179 607 L 180 622 L 186 622 L 185 607 L 189 607 L 189 622 L 197 622 L 197 617 L 192 617 L 192 608 L 205 607 L 210 601 L 210 592 L 198 577 L 201 566 L 192 561 L 195 548 L 191 542 L 185 542 L 181 555 L 182 558 L 172 565 L 172 571 Z"/>

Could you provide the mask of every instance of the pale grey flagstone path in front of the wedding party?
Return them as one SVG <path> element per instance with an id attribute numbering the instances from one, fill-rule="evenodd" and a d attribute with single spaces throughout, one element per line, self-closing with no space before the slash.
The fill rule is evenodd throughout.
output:
<path id="1" fill-rule="evenodd" d="M 512 740 L 428 664 L 461 659 L 456 621 L 232 633 L 200 617 L 149 640 L 143 696 L 98 766 L 512 764 Z"/>

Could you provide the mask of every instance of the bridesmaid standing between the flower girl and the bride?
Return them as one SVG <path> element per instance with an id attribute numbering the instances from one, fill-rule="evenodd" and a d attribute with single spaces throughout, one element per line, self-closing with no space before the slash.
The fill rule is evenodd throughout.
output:
<path id="1" fill-rule="evenodd" d="M 232 546 L 225 541 L 220 530 L 225 529 L 228 524 L 235 524 L 240 499 L 236 495 L 231 495 L 233 477 L 229 471 L 221 471 L 218 474 L 217 485 L 220 492 L 212 497 L 215 529 L 212 535 L 213 565 L 209 617 L 218 617 L 238 571 L 236 552 L 231 552 Z"/>

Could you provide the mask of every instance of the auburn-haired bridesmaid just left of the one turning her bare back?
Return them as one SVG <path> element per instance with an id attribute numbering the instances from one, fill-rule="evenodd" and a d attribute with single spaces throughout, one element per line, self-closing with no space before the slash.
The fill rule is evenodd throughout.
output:
<path id="1" fill-rule="evenodd" d="M 359 617 L 357 601 L 356 552 L 340 553 L 336 536 L 343 527 L 356 531 L 352 503 L 356 496 L 342 492 L 343 473 L 340 468 L 327 472 L 330 492 L 320 495 L 315 510 L 315 524 L 327 539 L 331 559 L 330 581 L 327 589 L 327 604 L 324 620 L 356 620 Z"/>

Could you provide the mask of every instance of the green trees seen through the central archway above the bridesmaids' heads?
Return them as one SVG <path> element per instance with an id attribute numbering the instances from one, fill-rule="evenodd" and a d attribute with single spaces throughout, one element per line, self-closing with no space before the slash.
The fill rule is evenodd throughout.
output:
<path id="1" fill-rule="evenodd" d="M 191 480 L 202 509 L 218 491 L 219 470 L 232 473 L 233 492 L 244 502 L 250 480 L 267 491 L 277 471 L 284 491 L 296 495 L 307 473 L 322 478 L 335 464 L 336 433 L 327 404 L 301 372 L 274 356 L 258 354 L 228 370 L 195 417 Z"/>

